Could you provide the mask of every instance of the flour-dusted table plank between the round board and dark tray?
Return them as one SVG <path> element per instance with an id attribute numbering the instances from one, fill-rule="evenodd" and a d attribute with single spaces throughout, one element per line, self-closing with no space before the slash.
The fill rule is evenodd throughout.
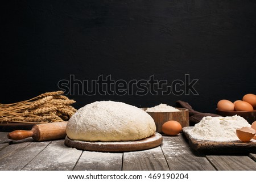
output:
<path id="1" fill-rule="evenodd" d="M 170 170 L 215 170 L 204 155 L 189 148 L 181 134 L 164 136 L 162 150 Z"/>

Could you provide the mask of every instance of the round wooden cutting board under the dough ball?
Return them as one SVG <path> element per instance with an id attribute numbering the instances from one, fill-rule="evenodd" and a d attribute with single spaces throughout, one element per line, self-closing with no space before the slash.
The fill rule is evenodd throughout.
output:
<path id="1" fill-rule="evenodd" d="M 138 141 L 120 141 L 120 142 L 86 142 L 65 138 L 65 145 L 79 150 L 101 151 L 101 152 L 124 152 L 151 149 L 161 145 L 163 137 L 155 133 L 151 137 Z"/>

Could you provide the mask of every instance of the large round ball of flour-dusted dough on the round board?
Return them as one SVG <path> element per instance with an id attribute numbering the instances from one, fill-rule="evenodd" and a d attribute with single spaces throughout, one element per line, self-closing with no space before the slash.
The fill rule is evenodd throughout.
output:
<path id="1" fill-rule="evenodd" d="M 80 108 L 68 121 L 67 136 L 80 141 L 135 141 L 152 136 L 153 118 L 133 105 L 96 101 Z"/>

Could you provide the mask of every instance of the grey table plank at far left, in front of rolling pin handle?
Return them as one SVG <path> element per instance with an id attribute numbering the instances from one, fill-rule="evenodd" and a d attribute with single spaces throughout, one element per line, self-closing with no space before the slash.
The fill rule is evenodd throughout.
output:
<path id="1" fill-rule="evenodd" d="M 22 170 L 32 159 L 35 158 L 50 142 L 20 142 L 6 147 L 0 153 L 9 151 L 9 155 L 0 160 L 1 170 Z M 2 155 L 1 155 L 2 156 Z"/>

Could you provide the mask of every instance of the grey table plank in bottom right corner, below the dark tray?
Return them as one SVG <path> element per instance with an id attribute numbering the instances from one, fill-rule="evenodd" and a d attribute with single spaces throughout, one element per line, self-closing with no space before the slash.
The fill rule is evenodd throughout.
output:
<path id="1" fill-rule="evenodd" d="M 255 171 L 256 162 L 249 156 L 207 155 L 208 160 L 219 171 Z"/>

